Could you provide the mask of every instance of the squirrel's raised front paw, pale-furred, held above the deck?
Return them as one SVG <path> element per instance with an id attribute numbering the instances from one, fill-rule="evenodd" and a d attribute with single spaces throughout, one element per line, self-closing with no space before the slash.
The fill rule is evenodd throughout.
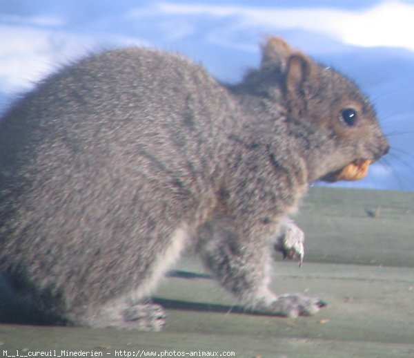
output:
<path id="1" fill-rule="evenodd" d="M 304 232 L 292 221 L 288 221 L 282 226 L 274 247 L 276 251 L 282 252 L 283 258 L 297 260 L 300 267 L 304 261 L 304 241 Z"/>

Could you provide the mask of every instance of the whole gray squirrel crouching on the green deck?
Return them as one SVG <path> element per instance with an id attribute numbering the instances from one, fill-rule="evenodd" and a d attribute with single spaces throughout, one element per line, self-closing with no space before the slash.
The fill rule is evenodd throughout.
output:
<path id="1" fill-rule="evenodd" d="M 387 151 L 357 86 L 277 37 L 232 85 L 177 54 L 91 55 L 1 119 L 0 270 L 52 323 L 161 330 L 148 298 L 193 247 L 246 309 L 314 314 L 269 290 L 271 253 L 302 262 L 309 183 Z"/>

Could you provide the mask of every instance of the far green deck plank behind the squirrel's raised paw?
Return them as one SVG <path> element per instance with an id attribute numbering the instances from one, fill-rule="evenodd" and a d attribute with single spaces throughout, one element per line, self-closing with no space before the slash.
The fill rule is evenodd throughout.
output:
<path id="1" fill-rule="evenodd" d="M 312 188 L 297 224 L 308 262 L 414 267 L 414 193 Z"/>

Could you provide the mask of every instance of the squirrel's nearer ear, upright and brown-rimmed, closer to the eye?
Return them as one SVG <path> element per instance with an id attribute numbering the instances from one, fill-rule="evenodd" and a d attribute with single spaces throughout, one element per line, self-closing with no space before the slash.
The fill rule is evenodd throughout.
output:
<path id="1" fill-rule="evenodd" d="M 290 55 L 286 64 L 284 91 L 298 111 L 306 106 L 306 88 L 316 81 L 316 64 L 302 53 Z"/>

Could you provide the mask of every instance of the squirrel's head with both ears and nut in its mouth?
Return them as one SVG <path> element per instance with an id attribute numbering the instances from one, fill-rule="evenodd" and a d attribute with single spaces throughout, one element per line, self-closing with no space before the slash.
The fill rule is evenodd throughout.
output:
<path id="1" fill-rule="evenodd" d="M 288 134 L 308 165 L 308 179 L 358 180 L 389 146 L 375 111 L 359 88 L 273 37 L 263 48 L 262 73 L 277 73 Z"/>

